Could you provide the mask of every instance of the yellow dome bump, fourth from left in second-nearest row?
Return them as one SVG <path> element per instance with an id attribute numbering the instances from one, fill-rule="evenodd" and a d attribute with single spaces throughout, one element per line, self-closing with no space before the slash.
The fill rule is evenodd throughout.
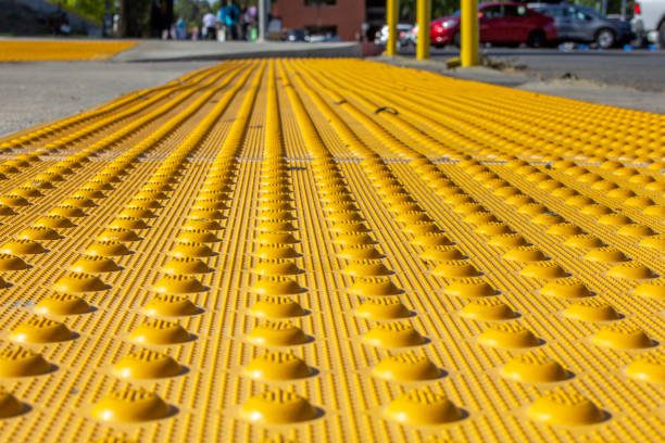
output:
<path id="1" fill-rule="evenodd" d="M 405 352 L 390 355 L 374 367 L 376 377 L 398 382 L 435 380 L 441 370 L 425 354 Z"/>

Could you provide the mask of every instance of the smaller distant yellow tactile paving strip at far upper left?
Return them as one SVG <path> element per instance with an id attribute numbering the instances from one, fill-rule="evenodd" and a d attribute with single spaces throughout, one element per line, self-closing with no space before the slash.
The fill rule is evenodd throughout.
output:
<path id="1" fill-rule="evenodd" d="M 2 40 L 0 62 L 65 62 L 106 60 L 137 45 L 136 41 Z"/>

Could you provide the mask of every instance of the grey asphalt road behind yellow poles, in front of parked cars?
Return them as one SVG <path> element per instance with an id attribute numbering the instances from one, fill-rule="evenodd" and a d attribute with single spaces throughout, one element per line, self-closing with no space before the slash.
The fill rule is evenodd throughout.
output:
<path id="1" fill-rule="evenodd" d="M 403 53 L 413 54 L 413 49 Z M 562 52 L 557 49 L 484 48 L 493 61 L 524 68 L 524 73 L 542 80 L 573 77 L 604 85 L 618 85 L 640 91 L 665 91 L 665 50 L 619 49 L 607 51 Z M 431 50 L 435 60 L 457 55 L 453 48 Z"/>

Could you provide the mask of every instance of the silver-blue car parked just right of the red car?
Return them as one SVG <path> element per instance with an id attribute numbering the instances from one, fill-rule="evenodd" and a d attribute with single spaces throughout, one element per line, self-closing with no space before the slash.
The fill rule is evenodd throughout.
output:
<path id="1" fill-rule="evenodd" d="M 603 17 L 591 8 L 569 3 L 529 3 L 528 7 L 554 18 L 561 41 L 593 42 L 607 49 L 630 38 L 628 23 Z"/>

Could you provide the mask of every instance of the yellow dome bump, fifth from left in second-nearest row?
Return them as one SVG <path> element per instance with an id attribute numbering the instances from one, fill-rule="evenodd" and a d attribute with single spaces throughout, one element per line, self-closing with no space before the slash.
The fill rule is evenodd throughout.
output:
<path id="1" fill-rule="evenodd" d="M 523 354 L 511 358 L 500 370 L 502 377 L 523 383 L 550 383 L 569 378 L 556 360 L 542 354 Z"/>

